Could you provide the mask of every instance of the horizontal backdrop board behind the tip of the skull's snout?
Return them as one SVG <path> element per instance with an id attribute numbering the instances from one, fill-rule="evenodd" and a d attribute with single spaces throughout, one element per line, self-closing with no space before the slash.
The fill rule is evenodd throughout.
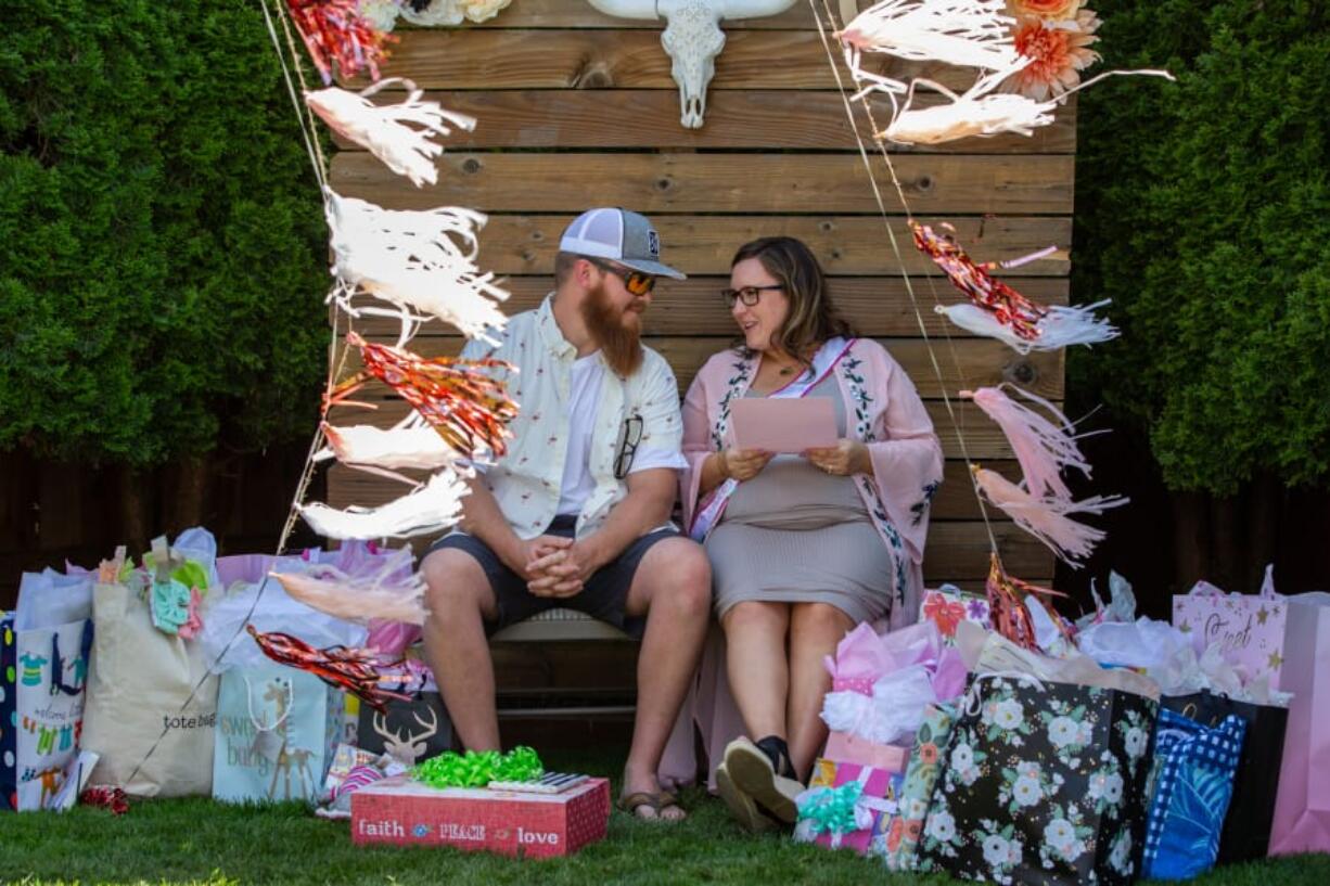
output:
<path id="1" fill-rule="evenodd" d="M 854 130 L 838 93 L 790 90 L 713 90 L 706 125 L 678 122 L 678 94 L 664 89 L 511 89 L 430 92 L 427 98 L 479 120 L 475 130 L 442 140 L 450 150 L 492 148 L 728 148 L 779 145 L 789 150 L 855 149 Z M 396 101 L 380 93 L 379 102 Z M 887 108 L 880 114 L 884 117 Z M 879 118 L 880 125 L 880 118 Z M 863 126 L 863 124 L 861 124 Z M 868 129 L 863 128 L 867 134 Z M 354 142 L 339 146 L 358 150 Z M 967 154 L 1064 154 L 1076 150 L 1076 113 L 1069 105 L 1033 136 L 963 138 L 895 152 Z"/>

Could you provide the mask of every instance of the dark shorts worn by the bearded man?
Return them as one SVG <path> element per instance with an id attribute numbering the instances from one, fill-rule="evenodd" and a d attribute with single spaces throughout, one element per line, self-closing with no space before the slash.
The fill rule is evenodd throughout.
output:
<path id="1" fill-rule="evenodd" d="M 555 521 L 545 529 L 545 535 L 559 535 L 567 539 L 573 537 L 577 517 L 556 516 Z M 624 605 L 628 603 L 628 591 L 633 585 L 633 576 L 637 573 L 637 564 L 642 556 L 657 541 L 678 537 L 676 529 L 656 529 L 637 539 L 608 565 L 597 569 L 581 592 L 572 597 L 537 597 L 527 589 L 527 581 L 520 575 L 509 569 L 489 547 L 466 532 L 452 532 L 430 545 L 426 556 L 444 548 L 455 548 L 469 553 L 471 557 L 484 569 L 489 579 L 489 588 L 495 595 L 497 617 L 485 623 L 485 633 L 492 635 L 511 624 L 525 621 L 547 609 L 576 609 L 585 612 L 593 619 L 598 619 L 614 625 L 630 637 L 641 639 L 646 628 L 646 620 L 624 615 Z"/>

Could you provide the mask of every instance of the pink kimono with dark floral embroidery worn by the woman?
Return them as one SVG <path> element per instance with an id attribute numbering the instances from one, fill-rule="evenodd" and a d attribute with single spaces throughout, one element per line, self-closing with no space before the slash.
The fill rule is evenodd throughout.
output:
<path id="1" fill-rule="evenodd" d="M 827 349 L 834 349 L 829 371 L 835 374 L 846 403 L 847 434 L 867 444 L 872 460 L 872 475 L 858 475 L 855 487 L 895 564 L 890 625 L 882 627 L 904 627 L 918 620 L 923 597 L 923 548 L 928 506 L 942 484 L 942 447 L 914 383 L 886 349 L 862 338 L 829 342 L 819 354 Z M 733 350 L 713 355 L 684 400 L 684 456 L 689 463 L 682 476 L 684 520 L 698 540 L 718 520 L 714 503 L 709 498 L 698 500 L 702 460 L 733 446 L 729 404 L 749 390 L 759 359 Z M 725 745 L 743 732 L 725 677 L 718 625 L 712 627 L 697 684 L 685 700 L 661 762 L 661 777 L 669 784 L 693 780 L 694 722 L 702 732 L 710 758 L 709 785 L 714 789 L 714 769 Z"/>

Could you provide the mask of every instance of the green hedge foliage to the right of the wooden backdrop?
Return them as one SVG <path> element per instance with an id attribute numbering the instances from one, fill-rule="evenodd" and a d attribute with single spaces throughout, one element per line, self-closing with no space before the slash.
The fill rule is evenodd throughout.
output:
<path id="1" fill-rule="evenodd" d="M 1314 0 L 1103 0 L 1080 98 L 1077 278 L 1123 339 L 1076 380 L 1174 490 L 1330 472 L 1330 17 Z"/>

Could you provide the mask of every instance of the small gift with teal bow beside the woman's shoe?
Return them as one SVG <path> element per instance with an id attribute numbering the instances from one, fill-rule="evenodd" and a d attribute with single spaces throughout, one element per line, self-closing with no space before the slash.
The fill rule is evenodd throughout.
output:
<path id="1" fill-rule="evenodd" d="M 797 801 L 794 839 L 866 855 L 874 835 L 883 833 L 884 822 L 896 813 L 903 780 L 899 772 L 818 760 L 809 789 Z"/>

